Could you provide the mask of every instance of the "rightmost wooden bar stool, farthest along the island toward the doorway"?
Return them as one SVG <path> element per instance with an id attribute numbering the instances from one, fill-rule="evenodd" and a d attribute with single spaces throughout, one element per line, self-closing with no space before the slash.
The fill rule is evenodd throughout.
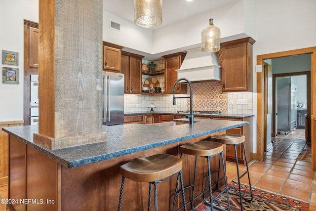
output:
<path id="1" fill-rule="evenodd" d="M 249 170 L 248 170 L 248 163 L 247 163 L 247 157 L 246 157 L 246 150 L 245 150 L 245 136 L 244 135 L 237 135 L 237 134 L 223 134 L 223 135 L 214 135 L 211 138 L 211 141 L 215 141 L 221 144 L 226 144 L 226 145 L 234 145 L 235 147 L 235 157 L 236 157 L 236 167 L 237 167 L 237 177 L 238 177 L 238 186 L 239 186 L 239 196 L 240 196 L 240 207 L 241 211 L 243 210 L 242 208 L 242 195 L 241 195 L 241 189 L 240 189 L 240 178 L 243 177 L 245 174 L 248 174 L 248 181 L 249 181 L 249 187 L 250 187 L 250 195 L 251 199 L 245 199 L 246 202 L 251 202 L 253 199 L 252 195 L 252 190 L 251 190 L 251 183 L 250 183 L 250 175 L 249 175 Z M 247 170 L 241 174 L 239 174 L 239 168 L 238 168 L 238 158 L 237 158 L 237 145 L 242 144 L 243 147 L 243 153 L 245 156 L 245 163 L 246 163 L 246 168 Z"/>

